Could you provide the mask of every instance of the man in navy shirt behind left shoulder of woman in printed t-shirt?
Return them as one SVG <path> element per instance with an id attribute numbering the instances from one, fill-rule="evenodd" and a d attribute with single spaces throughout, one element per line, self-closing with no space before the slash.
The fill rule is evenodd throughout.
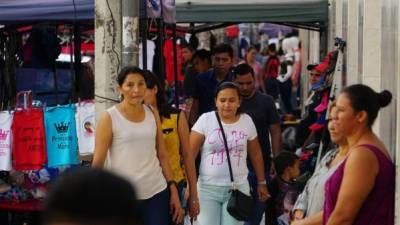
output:
<path id="1" fill-rule="evenodd" d="M 233 49 L 228 44 L 220 44 L 213 50 L 214 68 L 198 74 L 193 91 L 193 105 L 189 123 L 193 125 L 197 118 L 215 109 L 215 90 L 223 81 L 231 80 L 233 66 Z"/>

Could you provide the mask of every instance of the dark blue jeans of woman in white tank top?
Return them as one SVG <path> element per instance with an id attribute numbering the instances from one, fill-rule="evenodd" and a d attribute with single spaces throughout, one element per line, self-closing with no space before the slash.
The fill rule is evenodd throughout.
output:
<path id="1" fill-rule="evenodd" d="M 153 197 L 141 201 L 144 225 L 169 224 L 169 196 L 169 190 L 166 188 Z"/>

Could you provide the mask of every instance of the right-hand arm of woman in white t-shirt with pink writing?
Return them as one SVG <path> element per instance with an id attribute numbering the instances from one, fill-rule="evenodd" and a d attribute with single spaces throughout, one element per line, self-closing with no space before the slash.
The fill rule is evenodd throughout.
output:
<path id="1" fill-rule="evenodd" d="M 265 201 L 267 200 L 269 194 L 267 190 L 267 184 L 265 183 L 266 180 L 264 174 L 264 160 L 258 138 L 247 141 L 247 151 L 249 153 L 251 164 L 253 165 L 254 172 L 257 177 L 257 182 L 259 183 L 258 196 L 261 201 Z"/>

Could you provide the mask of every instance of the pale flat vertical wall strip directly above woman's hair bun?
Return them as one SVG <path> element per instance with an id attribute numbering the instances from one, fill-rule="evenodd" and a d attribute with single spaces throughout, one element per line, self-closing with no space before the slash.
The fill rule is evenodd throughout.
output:
<path id="1" fill-rule="evenodd" d="M 375 91 L 381 90 L 382 0 L 364 1 L 363 77 L 362 82 Z M 373 127 L 380 135 L 380 118 Z"/>

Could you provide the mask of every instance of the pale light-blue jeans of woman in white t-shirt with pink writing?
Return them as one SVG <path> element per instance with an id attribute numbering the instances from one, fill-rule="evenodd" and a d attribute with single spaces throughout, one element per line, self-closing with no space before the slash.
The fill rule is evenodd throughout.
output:
<path id="1" fill-rule="evenodd" d="M 226 210 L 231 196 L 230 186 L 206 185 L 198 182 L 197 188 L 200 201 L 198 219 L 201 225 L 243 225 L 244 222 L 236 220 Z M 247 183 L 237 188 L 250 195 L 250 187 Z"/>

